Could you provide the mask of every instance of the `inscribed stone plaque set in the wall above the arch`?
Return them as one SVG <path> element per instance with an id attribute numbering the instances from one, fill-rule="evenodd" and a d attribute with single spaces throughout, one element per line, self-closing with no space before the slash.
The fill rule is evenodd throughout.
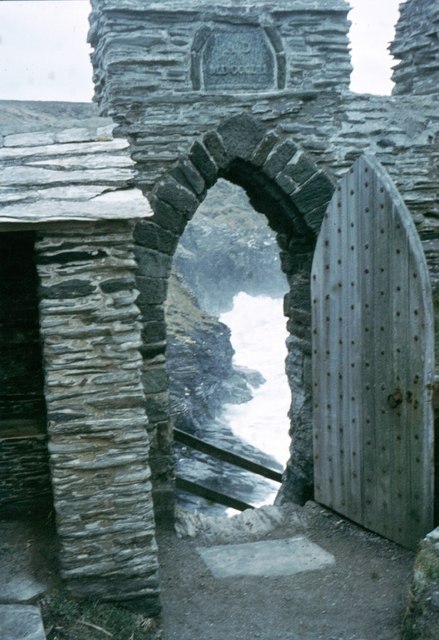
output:
<path id="1" fill-rule="evenodd" d="M 264 90 L 276 87 L 276 54 L 260 27 L 211 31 L 201 54 L 205 89 Z"/>

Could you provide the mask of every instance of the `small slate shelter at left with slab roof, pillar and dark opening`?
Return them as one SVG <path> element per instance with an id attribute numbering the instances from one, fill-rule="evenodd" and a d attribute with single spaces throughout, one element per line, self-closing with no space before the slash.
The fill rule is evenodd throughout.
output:
<path id="1" fill-rule="evenodd" d="M 70 590 L 156 614 L 134 242 L 150 210 L 95 109 L 66 128 L 62 105 L 4 108 L 32 130 L 0 147 L 0 505 L 53 500 Z"/>

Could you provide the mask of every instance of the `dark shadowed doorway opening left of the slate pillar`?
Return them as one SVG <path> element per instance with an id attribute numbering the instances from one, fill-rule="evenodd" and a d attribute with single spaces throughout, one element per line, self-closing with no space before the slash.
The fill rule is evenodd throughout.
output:
<path id="1" fill-rule="evenodd" d="M 35 234 L 0 233 L 0 505 L 51 496 Z"/>

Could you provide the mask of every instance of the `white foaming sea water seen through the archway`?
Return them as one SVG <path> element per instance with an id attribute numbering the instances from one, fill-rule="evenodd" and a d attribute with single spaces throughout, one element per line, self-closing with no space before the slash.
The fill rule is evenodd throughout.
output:
<path id="1" fill-rule="evenodd" d="M 285 466 L 289 449 L 287 414 L 291 394 L 285 375 L 287 331 L 282 305 L 282 298 L 241 292 L 235 296 L 232 310 L 220 316 L 231 330 L 234 364 L 258 371 L 265 382 L 252 389 L 253 397 L 248 402 L 224 405 L 222 414 L 204 429 L 204 439 L 212 444 L 273 468 L 275 462 L 281 468 Z M 241 443 L 252 446 L 250 454 Z M 254 506 L 273 504 L 280 487 L 273 480 L 194 452 L 188 456 L 183 451 L 176 460 L 176 469 L 186 479 Z M 212 515 L 236 513 L 189 494 L 178 495 L 184 508 Z"/>

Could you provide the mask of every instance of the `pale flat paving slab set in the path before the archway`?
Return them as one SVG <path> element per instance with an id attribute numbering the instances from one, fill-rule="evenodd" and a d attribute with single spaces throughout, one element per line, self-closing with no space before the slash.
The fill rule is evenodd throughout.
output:
<path id="1" fill-rule="evenodd" d="M 335 565 L 335 558 L 304 536 L 197 547 L 215 578 L 288 576 Z"/>

